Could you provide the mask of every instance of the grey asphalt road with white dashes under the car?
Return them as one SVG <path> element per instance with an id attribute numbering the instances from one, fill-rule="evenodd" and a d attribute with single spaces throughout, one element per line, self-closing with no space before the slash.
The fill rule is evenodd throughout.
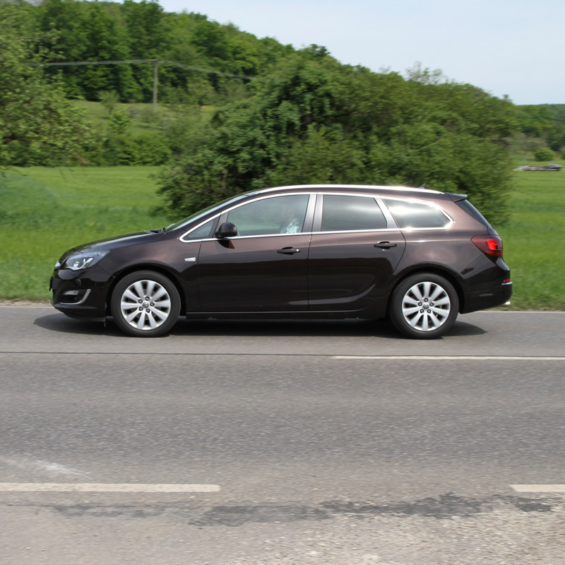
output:
<path id="1" fill-rule="evenodd" d="M 565 563 L 565 313 L 0 319 L 1 564 Z"/>

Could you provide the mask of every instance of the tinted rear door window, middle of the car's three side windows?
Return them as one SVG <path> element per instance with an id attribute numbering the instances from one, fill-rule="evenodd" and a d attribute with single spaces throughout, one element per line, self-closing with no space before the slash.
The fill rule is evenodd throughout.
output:
<path id="1" fill-rule="evenodd" d="M 365 196 L 323 196 L 322 232 L 384 230 L 386 218 L 374 198 Z"/>

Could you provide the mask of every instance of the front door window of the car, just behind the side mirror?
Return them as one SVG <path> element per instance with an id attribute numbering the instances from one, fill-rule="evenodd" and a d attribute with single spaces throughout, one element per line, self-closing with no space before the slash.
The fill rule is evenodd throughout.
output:
<path id="1" fill-rule="evenodd" d="M 232 210 L 227 221 L 237 226 L 239 236 L 300 233 L 309 198 L 309 194 L 261 198 Z"/>

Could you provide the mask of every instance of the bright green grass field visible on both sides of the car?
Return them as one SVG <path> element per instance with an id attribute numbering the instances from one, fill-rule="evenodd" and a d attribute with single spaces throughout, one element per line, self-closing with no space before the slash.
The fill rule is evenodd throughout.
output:
<path id="1" fill-rule="evenodd" d="M 559 162 L 559 161 L 558 161 Z M 561 162 L 565 165 L 565 162 Z M 170 222 L 157 167 L 29 167 L 0 174 L 0 299 L 49 299 L 70 247 Z M 512 271 L 512 309 L 565 310 L 565 170 L 513 172 L 511 221 L 495 226 Z"/>

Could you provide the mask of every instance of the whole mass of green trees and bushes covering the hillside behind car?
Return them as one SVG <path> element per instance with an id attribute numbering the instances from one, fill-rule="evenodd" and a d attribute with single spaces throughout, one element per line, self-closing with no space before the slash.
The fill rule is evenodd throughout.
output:
<path id="1" fill-rule="evenodd" d="M 516 133 L 565 145 L 559 108 L 516 107 L 420 66 L 401 76 L 343 65 L 324 47 L 294 49 L 152 1 L 0 4 L 0 52 L 0 166 L 166 162 L 160 191 L 174 217 L 276 184 L 425 183 L 469 194 L 501 222 Z M 151 66 L 30 66 L 125 59 L 261 80 L 162 68 L 171 111 L 159 133 L 133 138 L 123 114 L 97 131 L 69 99 L 149 101 Z M 211 120 L 195 112 L 211 102 Z"/>

